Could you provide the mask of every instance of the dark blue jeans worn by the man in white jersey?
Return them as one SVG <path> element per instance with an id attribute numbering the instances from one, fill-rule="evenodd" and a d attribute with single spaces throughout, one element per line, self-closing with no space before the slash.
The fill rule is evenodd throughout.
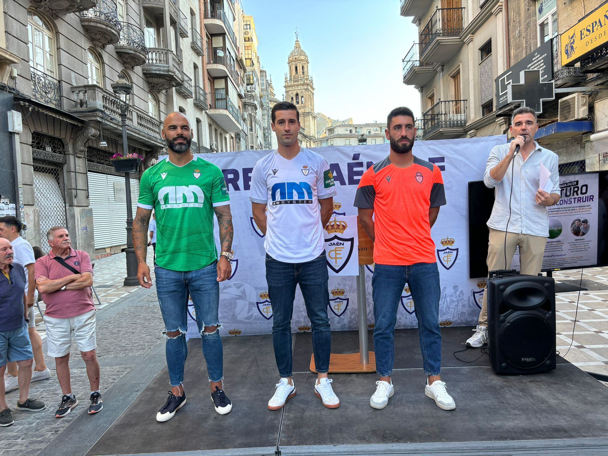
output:
<path id="1" fill-rule="evenodd" d="M 327 316 L 330 294 L 325 251 L 306 263 L 283 263 L 266 254 L 266 282 L 272 306 L 272 345 L 278 374 L 292 375 L 291 317 L 295 286 L 300 285 L 313 330 L 314 365 L 319 373 L 330 370 L 331 329 Z"/>

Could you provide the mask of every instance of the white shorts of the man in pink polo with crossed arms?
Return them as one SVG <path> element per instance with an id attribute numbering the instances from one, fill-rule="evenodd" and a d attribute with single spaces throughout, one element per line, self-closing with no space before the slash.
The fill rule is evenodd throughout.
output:
<path id="1" fill-rule="evenodd" d="M 69 318 L 44 316 L 46 324 L 47 354 L 60 358 L 70 353 L 72 334 L 78 350 L 91 351 L 97 347 L 95 341 L 95 309 L 86 314 Z"/>

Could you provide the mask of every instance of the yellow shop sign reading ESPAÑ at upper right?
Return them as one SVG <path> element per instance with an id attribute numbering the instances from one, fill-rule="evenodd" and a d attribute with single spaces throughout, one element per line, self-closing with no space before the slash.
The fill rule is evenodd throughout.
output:
<path id="1" fill-rule="evenodd" d="M 608 43 L 608 1 L 560 36 L 562 66 L 572 65 Z"/>

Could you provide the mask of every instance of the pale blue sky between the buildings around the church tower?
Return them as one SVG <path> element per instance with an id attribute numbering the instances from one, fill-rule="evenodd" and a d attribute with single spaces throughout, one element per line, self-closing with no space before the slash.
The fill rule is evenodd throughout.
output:
<path id="1" fill-rule="evenodd" d="M 295 27 L 314 79 L 315 111 L 332 119 L 385 122 L 396 106 L 420 115 L 420 94 L 402 83 L 401 59 L 416 27 L 399 15 L 399 0 L 242 0 L 254 16 L 260 63 L 283 96 Z"/>

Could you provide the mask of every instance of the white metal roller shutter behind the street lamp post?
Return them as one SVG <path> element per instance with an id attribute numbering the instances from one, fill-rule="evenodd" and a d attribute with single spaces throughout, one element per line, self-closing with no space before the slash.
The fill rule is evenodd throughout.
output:
<path id="1" fill-rule="evenodd" d="M 87 173 L 89 178 L 89 207 L 93 210 L 95 249 L 126 244 L 126 202 L 116 201 L 114 182 L 124 184 L 123 176 Z M 133 216 L 137 211 L 139 181 L 131 178 Z"/>

